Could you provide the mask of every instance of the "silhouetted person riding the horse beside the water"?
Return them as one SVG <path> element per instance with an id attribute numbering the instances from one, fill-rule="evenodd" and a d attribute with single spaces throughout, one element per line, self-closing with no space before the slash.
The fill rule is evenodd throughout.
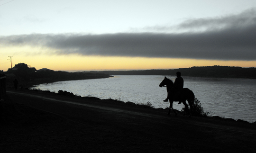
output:
<path id="1" fill-rule="evenodd" d="M 183 89 L 184 81 L 183 81 L 183 78 L 181 77 L 181 72 L 176 72 L 176 75 L 177 75 L 177 78 L 174 81 L 174 88 L 167 89 L 167 93 L 168 93 L 168 91 L 171 90 L 171 92 L 174 92 L 174 95 L 180 96 L 180 92 Z M 165 102 L 168 101 L 168 96 L 164 101 Z M 180 103 L 181 103 L 181 101 L 179 102 L 179 104 Z"/>

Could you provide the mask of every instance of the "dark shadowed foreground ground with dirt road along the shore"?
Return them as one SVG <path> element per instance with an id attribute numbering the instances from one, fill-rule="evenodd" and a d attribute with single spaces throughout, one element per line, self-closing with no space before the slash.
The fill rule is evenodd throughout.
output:
<path id="1" fill-rule="evenodd" d="M 256 153 L 256 125 L 117 100 L 8 90 L 0 153 Z"/>

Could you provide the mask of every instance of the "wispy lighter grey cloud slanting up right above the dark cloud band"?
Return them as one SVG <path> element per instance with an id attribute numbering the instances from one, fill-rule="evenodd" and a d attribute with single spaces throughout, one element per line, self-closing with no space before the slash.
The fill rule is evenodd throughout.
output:
<path id="1" fill-rule="evenodd" d="M 215 31 L 232 27 L 247 27 L 256 22 L 256 9 L 248 9 L 238 15 L 227 15 L 216 18 L 194 18 L 187 19 L 175 26 L 153 26 L 144 27 L 142 31 L 174 33 L 176 31 L 183 32 L 204 32 Z M 131 31 L 139 31 L 139 29 L 131 29 Z"/>

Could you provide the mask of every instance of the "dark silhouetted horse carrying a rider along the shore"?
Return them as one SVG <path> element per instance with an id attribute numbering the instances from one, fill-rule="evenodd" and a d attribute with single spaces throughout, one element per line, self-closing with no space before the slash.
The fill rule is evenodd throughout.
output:
<path id="1" fill-rule="evenodd" d="M 192 105 L 194 103 L 195 100 L 195 95 L 193 93 L 192 90 L 189 90 L 188 88 L 183 88 L 181 90 L 181 94 L 180 96 L 176 96 L 173 92 L 173 87 L 174 87 L 174 82 L 171 81 L 170 79 L 166 78 L 159 84 L 159 87 L 163 87 L 166 86 L 167 90 L 168 90 L 168 96 L 167 99 L 169 99 L 170 102 L 170 107 L 169 107 L 169 112 L 168 115 L 170 114 L 171 108 L 173 109 L 175 116 L 177 115 L 177 113 L 175 112 L 174 108 L 173 108 L 173 103 L 174 101 L 181 101 L 183 103 L 183 105 L 185 105 L 185 111 L 188 110 L 188 105 L 186 103 L 186 100 L 188 100 L 190 109 L 192 110 Z M 185 113 L 185 112 L 184 112 Z M 189 117 L 191 117 L 192 112 L 190 112 Z"/>

